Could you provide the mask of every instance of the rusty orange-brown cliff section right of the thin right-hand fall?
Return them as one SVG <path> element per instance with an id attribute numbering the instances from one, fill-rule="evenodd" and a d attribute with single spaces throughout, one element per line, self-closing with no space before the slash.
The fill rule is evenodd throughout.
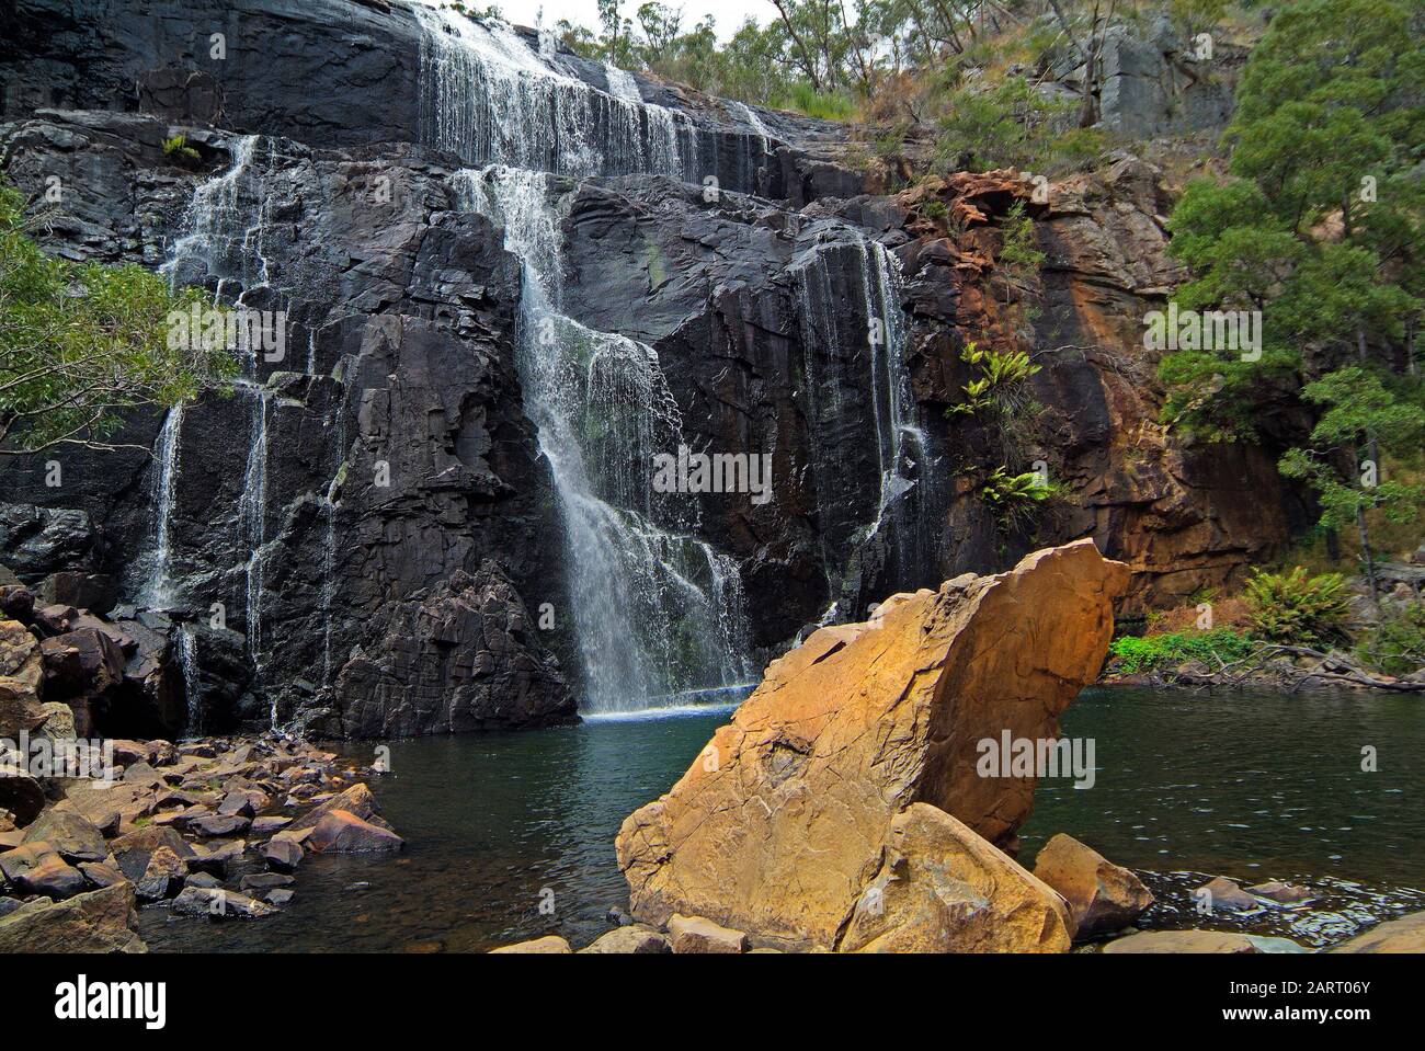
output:
<path id="1" fill-rule="evenodd" d="M 1164 426 L 1160 355 L 1143 346 L 1144 316 L 1163 309 L 1187 275 L 1167 252 L 1171 201 L 1161 172 L 1121 155 L 1042 189 L 1036 199 L 1033 182 L 1015 171 L 958 172 L 896 198 L 921 215 L 935 201 L 946 216 L 906 222 L 916 238 L 902 249 L 916 397 L 928 406 L 962 400 L 973 379 L 960 360 L 969 342 L 1032 355 L 1040 372 L 1027 389 L 1039 412 L 1016 433 L 1013 454 L 965 417 L 948 437 L 980 470 L 1046 461 L 1069 497 L 1030 543 L 1092 535 L 1133 571 L 1126 608 L 1235 587 L 1301 524 L 1275 464 L 1302 422 L 1290 404 L 1274 406 L 1263 441 L 1241 444 L 1184 443 Z M 1035 221 L 1039 268 L 1000 259 L 1016 204 Z M 958 488 L 949 533 L 959 538 L 949 574 L 995 564 L 993 545 L 978 540 L 989 531 L 973 484 Z"/>

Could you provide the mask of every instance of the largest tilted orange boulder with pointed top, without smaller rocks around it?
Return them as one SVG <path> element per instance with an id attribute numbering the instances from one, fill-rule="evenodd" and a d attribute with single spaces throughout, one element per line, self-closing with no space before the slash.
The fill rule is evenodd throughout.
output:
<path id="1" fill-rule="evenodd" d="M 982 778 L 978 742 L 1057 735 L 1099 672 L 1127 580 L 1084 540 L 815 632 L 768 666 L 668 795 L 624 822 L 634 914 L 835 948 L 912 803 L 1007 839 L 1035 779 Z"/>

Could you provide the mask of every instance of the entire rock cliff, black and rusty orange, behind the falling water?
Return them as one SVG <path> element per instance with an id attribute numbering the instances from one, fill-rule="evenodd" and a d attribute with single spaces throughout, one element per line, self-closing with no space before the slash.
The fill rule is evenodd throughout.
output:
<path id="1" fill-rule="evenodd" d="M 289 322 L 282 360 L 231 394 L 167 426 L 135 416 L 131 447 L 66 450 L 58 488 L 51 457 L 0 460 L 0 563 L 27 584 L 108 575 L 125 615 L 171 615 L 208 732 L 571 718 L 577 553 L 520 382 L 529 289 L 452 188 L 513 147 L 433 118 L 430 26 L 400 0 L 7 0 L 0 17 L 0 165 L 36 198 L 58 178 L 47 246 L 165 266 Z M 1147 165 L 1032 205 L 1046 261 L 1026 276 L 998 258 L 1029 195 L 1010 175 L 868 197 L 829 125 L 641 77 L 647 105 L 620 108 L 603 67 L 540 61 L 564 94 L 536 101 L 583 114 L 581 135 L 624 137 L 559 181 L 563 309 L 656 352 L 688 446 L 772 457 L 772 500 L 704 494 L 695 516 L 737 564 L 757 655 L 1046 543 L 1092 534 L 1144 607 L 1231 581 L 1288 534 L 1273 450 L 1184 449 L 1156 423 L 1141 316 L 1177 273 Z M 637 168 L 654 125 L 673 178 Z M 174 134 L 197 167 L 165 155 Z M 926 218 L 932 197 L 953 228 Z M 1042 365 L 1023 433 L 946 416 L 972 340 Z M 980 487 L 1036 460 L 1069 496 L 1006 526 Z"/>

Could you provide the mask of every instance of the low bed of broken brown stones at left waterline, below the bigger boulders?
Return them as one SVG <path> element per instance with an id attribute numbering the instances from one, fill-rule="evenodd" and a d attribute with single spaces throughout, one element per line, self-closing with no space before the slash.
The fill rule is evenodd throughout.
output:
<path id="1" fill-rule="evenodd" d="M 292 900 L 308 852 L 402 849 L 362 770 L 294 738 L 97 752 L 111 779 L 38 778 L 0 752 L 0 951 L 141 953 L 137 906 L 262 919 Z"/>

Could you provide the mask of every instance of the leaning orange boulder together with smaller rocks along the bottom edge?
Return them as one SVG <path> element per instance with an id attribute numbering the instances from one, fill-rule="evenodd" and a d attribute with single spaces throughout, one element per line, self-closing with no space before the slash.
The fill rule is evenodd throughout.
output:
<path id="1" fill-rule="evenodd" d="M 1079 541 L 811 635 L 624 822 L 630 914 L 580 951 L 1063 953 L 1107 938 L 1114 954 L 1297 951 L 1235 931 L 1134 930 L 1153 894 L 1069 835 L 1033 872 L 1013 857 L 1045 770 L 986 762 L 986 742 L 1059 738 L 1127 581 Z M 1216 914 L 1300 907 L 1310 891 L 1216 879 L 1196 897 Z M 1421 948 L 1425 916 L 1335 951 Z M 574 950 L 550 936 L 496 951 Z"/>

